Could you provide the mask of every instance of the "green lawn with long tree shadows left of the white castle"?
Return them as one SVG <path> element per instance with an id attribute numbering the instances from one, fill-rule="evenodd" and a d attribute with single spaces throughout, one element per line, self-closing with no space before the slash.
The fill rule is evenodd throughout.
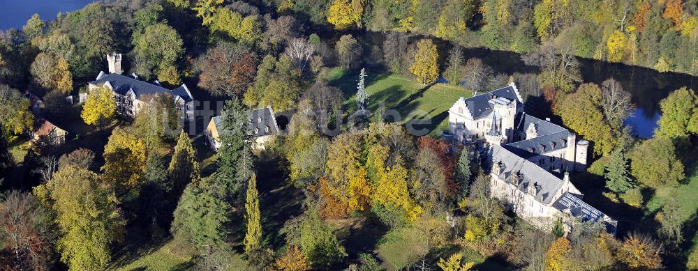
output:
<path id="1" fill-rule="evenodd" d="M 344 108 L 348 112 L 355 110 L 358 72 L 335 68 L 329 72 L 329 78 L 330 85 L 343 91 Z M 424 86 L 412 78 L 376 74 L 370 70 L 366 72 L 365 85 L 369 93 L 369 110 L 375 111 L 380 104 L 385 104 L 386 110 L 395 109 L 400 114 L 399 123 L 415 119 L 430 121 L 415 127 L 426 128 L 435 136 L 447 129 L 448 109 L 454 102 L 460 97 L 473 95 L 472 91 L 459 86 L 440 83 Z"/>

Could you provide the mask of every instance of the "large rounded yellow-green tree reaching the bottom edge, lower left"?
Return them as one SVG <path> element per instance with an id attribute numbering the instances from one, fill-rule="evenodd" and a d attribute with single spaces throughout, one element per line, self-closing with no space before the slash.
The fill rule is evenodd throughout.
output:
<path id="1" fill-rule="evenodd" d="M 61 237 L 57 248 L 69 270 L 102 270 L 111 261 L 110 245 L 121 238 L 125 222 L 114 190 L 97 174 L 69 166 L 50 182 L 50 198 Z"/>

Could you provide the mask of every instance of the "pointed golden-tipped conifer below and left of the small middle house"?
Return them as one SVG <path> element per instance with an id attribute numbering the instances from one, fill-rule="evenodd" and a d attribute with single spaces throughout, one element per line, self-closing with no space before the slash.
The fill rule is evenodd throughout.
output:
<path id="1" fill-rule="evenodd" d="M 177 146 L 174 146 L 174 154 L 170 167 L 168 167 L 168 176 L 172 183 L 172 195 L 174 201 L 184 191 L 184 187 L 188 183 L 193 183 L 200 179 L 199 163 L 196 162 L 196 150 L 191 146 L 189 136 L 181 131 Z"/>

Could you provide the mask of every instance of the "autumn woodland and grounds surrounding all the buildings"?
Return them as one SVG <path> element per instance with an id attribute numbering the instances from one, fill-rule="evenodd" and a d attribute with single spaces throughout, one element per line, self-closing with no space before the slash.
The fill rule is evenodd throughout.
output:
<path id="1" fill-rule="evenodd" d="M 692 81 L 656 101 L 640 139 L 628 86 L 580 71 L 693 79 L 697 42 L 697 0 L 110 0 L 33 15 L 0 31 L 0 270 L 698 270 Z M 171 93 L 118 114 L 110 88 L 89 87 L 115 52 L 124 75 L 186 85 L 196 117 Z M 571 181 L 615 235 L 537 229 L 492 197 L 483 153 L 441 137 L 456 100 L 510 84 L 527 113 L 591 141 Z M 247 112 L 263 108 L 288 118 L 255 148 Z M 64 142 L 40 135 L 47 121 Z"/>

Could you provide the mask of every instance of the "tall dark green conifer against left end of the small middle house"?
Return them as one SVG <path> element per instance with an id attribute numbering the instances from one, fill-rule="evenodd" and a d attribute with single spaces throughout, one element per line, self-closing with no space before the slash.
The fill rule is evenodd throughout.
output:
<path id="1" fill-rule="evenodd" d="M 239 192 L 252 175 L 253 157 L 248 139 L 250 116 L 237 97 L 225 103 L 223 126 L 218 130 L 221 148 L 218 149 L 218 171 L 215 178 L 225 184 L 230 196 Z"/>

